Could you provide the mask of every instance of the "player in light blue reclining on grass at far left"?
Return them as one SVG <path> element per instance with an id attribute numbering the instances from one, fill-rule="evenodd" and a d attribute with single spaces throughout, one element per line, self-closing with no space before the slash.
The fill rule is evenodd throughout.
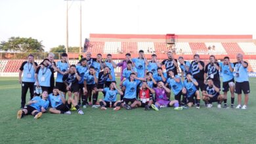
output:
<path id="1" fill-rule="evenodd" d="M 49 107 L 49 101 L 47 100 L 48 92 L 43 91 L 42 98 L 39 96 L 33 97 L 28 101 L 28 105 L 24 109 L 18 111 L 17 118 L 20 119 L 25 115 L 33 115 L 33 118 L 40 118 L 46 109 Z"/>

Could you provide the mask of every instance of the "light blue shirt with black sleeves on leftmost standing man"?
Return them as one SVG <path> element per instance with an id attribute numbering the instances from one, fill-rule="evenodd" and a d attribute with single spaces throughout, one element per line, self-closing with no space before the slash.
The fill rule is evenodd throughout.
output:
<path id="1" fill-rule="evenodd" d="M 37 65 L 36 62 L 35 65 Z M 22 82 L 35 82 L 35 69 L 32 63 L 23 62 L 20 71 L 23 71 Z"/>

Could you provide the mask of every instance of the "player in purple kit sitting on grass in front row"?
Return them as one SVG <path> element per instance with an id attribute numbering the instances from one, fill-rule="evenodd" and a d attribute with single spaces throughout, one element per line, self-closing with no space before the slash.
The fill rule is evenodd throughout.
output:
<path id="1" fill-rule="evenodd" d="M 182 107 L 179 107 L 179 101 L 173 100 L 170 101 L 167 98 L 167 92 L 170 93 L 171 90 L 163 84 L 163 81 L 158 82 L 158 87 L 154 88 L 156 92 L 156 103 L 152 104 L 151 107 L 152 109 L 158 111 L 160 107 L 167 107 L 167 106 L 174 106 L 175 110 L 182 110 Z"/>

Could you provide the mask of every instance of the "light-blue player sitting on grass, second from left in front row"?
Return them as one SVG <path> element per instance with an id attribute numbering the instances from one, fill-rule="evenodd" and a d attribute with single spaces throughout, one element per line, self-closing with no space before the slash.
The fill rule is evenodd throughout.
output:
<path id="1" fill-rule="evenodd" d="M 66 101 L 65 96 L 58 88 L 53 88 L 53 94 L 49 94 L 49 101 L 51 101 L 51 108 L 49 111 L 54 114 L 68 114 L 70 115 L 70 108 L 75 105 L 75 109 L 79 115 L 83 115 L 83 111 L 80 109 L 79 105 L 74 101 L 72 97 L 68 97 Z"/>

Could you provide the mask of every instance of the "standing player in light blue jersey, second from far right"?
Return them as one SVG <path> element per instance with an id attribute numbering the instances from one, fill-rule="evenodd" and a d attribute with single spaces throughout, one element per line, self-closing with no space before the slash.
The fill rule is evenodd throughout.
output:
<path id="1" fill-rule="evenodd" d="M 224 92 L 224 108 L 226 105 L 226 95 L 228 94 L 228 90 L 231 93 L 231 108 L 234 108 L 234 64 L 230 63 L 228 56 L 224 57 L 224 62 L 221 65 L 221 75 L 223 77 L 223 92 Z"/>

